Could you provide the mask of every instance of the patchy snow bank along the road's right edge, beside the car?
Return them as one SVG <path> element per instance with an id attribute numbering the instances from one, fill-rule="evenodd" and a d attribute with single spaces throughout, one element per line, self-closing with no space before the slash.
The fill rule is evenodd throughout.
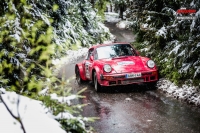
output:
<path id="1" fill-rule="evenodd" d="M 182 87 L 178 87 L 169 80 L 160 79 L 158 82 L 158 89 L 166 93 L 167 96 L 200 106 L 200 92 L 198 87 L 191 85 L 182 85 Z"/>

